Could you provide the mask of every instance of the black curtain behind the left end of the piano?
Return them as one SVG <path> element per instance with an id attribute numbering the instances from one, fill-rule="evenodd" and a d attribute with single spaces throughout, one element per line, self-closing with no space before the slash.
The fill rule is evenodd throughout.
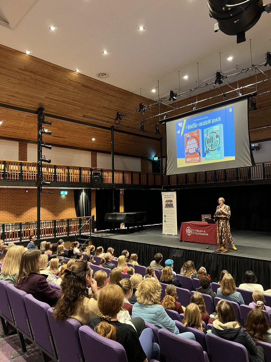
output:
<path id="1" fill-rule="evenodd" d="M 120 190 L 115 189 L 115 211 L 120 210 Z M 96 229 L 107 230 L 110 228 L 108 222 L 104 222 L 104 215 L 107 212 L 113 212 L 113 190 L 112 189 L 96 189 L 95 191 L 96 205 Z"/>

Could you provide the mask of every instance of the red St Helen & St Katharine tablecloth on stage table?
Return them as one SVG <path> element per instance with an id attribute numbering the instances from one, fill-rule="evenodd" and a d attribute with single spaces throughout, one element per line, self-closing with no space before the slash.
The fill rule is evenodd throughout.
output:
<path id="1" fill-rule="evenodd" d="M 182 223 L 180 241 L 193 241 L 194 243 L 216 244 L 216 224 L 203 222 Z"/>

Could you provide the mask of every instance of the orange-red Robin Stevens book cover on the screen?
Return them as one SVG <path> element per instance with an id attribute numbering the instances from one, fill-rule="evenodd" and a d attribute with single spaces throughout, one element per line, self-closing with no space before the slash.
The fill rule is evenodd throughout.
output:
<path id="1" fill-rule="evenodd" d="M 187 132 L 184 136 L 185 163 L 201 163 L 201 130 Z"/>

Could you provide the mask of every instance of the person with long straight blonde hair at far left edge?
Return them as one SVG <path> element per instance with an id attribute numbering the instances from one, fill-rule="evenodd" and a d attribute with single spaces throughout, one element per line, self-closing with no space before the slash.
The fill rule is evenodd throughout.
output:
<path id="1" fill-rule="evenodd" d="M 22 245 L 17 245 L 12 248 L 8 248 L 5 261 L 3 263 L 0 279 L 13 285 L 16 284 L 16 278 L 19 271 L 19 266 L 22 258 L 22 254 L 25 252 L 25 248 Z"/>

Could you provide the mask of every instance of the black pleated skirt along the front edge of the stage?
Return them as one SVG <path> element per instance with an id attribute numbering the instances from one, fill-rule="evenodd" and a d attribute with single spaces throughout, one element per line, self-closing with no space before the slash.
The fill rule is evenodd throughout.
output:
<path id="1" fill-rule="evenodd" d="M 221 270 L 226 269 L 235 279 L 236 286 L 242 283 L 242 275 L 246 270 L 253 270 L 257 279 L 262 284 L 264 290 L 270 288 L 271 280 L 271 261 L 257 260 L 253 258 L 237 257 L 230 254 L 206 253 L 202 251 L 177 249 L 166 246 L 151 245 L 145 243 L 136 243 L 134 241 L 117 240 L 92 236 L 92 242 L 95 247 L 102 246 L 104 250 L 114 248 L 114 255 L 121 255 L 121 251 L 127 249 L 130 254 L 136 253 L 138 262 L 141 265 L 148 266 L 154 259 L 156 253 L 162 253 L 163 261 L 172 259 L 174 261 L 174 271 L 180 272 L 181 266 L 187 260 L 192 260 L 198 270 L 205 266 L 207 273 L 210 274 L 213 282 L 218 282 Z"/>

